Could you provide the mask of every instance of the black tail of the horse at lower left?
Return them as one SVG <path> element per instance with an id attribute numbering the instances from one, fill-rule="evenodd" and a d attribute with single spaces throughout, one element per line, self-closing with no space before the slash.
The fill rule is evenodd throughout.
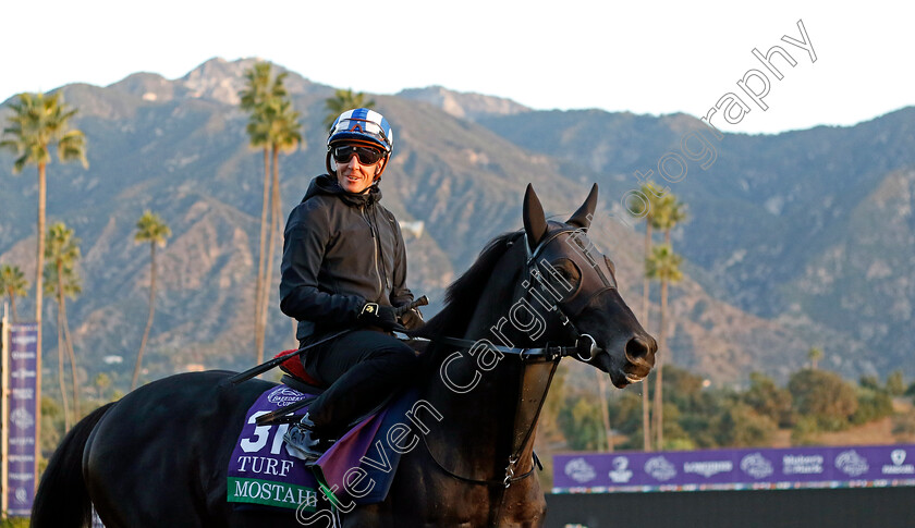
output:
<path id="1" fill-rule="evenodd" d="M 80 420 L 54 451 L 32 505 L 33 528 L 91 525 L 93 503 L 83 480 L 83 450 L 93 429 L 112 405 L 102 405 Z"/>

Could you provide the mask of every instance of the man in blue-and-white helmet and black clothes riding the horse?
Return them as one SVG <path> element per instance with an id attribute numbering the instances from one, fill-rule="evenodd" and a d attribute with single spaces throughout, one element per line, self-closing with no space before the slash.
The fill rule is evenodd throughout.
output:
<path id="1" fill-rule="evenodd" d="M 413 300 L 400 226 L 379 202 L 392 144 L 380 113 L 358 108 L 340 114 L 327 139 L 328 173 L 312 180 L 286 222 L 280 308 L 298 321 L 300 347 L 352 329 L 303 355 L 305 371 L 328 386 L 285 434 L 304 458 L 320 456 L 328 440 L 418 366 L 414 351 L 391 333 L 399 322 L 394 308 Z M 422 316 L 413 309 L 400 322 L 415 328 Z"/>

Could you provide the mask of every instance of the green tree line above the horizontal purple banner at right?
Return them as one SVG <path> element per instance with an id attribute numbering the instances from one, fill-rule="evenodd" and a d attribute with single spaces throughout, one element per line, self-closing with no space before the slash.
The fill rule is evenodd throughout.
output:
<path id="1" fill-rule="evenodd" d="M 873 376 L 857 383 L 835 372 L 804 368 L 784 385 L 753 372 L 747 386 L 711 388 L 700 376 L 668 364 L 663 402 L 664 443 L 659 450 L 771 446 L 817 443 L 821 433 L 844 431 L 887 417 L 896 442 L 915 441 L 915 409 L 894 410 L 893 398 L 915 401 L 915 382 L 901 370 L 883 382 Z M 642 450 L 643 400 L 636 388 L 596 402 L 593 389 L 566 383 L 568 369 L 557 373 L 556 394 L 545 410 L 553 445 L 572 451 Z M 606 435 L 601 407 L 609 410 L 612 437 Z M 649 427 L 656 427 L 649 421 Z M 779 434 L 783 433 L 781 437 Z"/>

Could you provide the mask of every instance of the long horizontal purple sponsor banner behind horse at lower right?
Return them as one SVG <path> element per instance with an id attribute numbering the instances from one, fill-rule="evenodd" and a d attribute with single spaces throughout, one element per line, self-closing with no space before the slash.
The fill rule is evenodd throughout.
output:
<path id="1" fill-rule="evenodd" d="M 915 486 L 915 445 L 553 456 L 553 491 Z"/>

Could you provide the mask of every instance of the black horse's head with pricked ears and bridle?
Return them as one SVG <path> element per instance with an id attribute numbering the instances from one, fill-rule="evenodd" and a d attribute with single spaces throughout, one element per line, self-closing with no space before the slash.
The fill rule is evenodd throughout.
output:
<path id="1" fill-rule="evenodd" d="M 618 388 L 643 380 L 658 345 L 617 288 L 613 262 L 590 243 L 587 230 L 597 204 L 597 184 L 565 222 L 548 222 L 528 185 L 524 196 L 527 275 L 533 300 L 556 307 L 554 334 L 577 340 L 578 359 L 610 374 Z"/>

